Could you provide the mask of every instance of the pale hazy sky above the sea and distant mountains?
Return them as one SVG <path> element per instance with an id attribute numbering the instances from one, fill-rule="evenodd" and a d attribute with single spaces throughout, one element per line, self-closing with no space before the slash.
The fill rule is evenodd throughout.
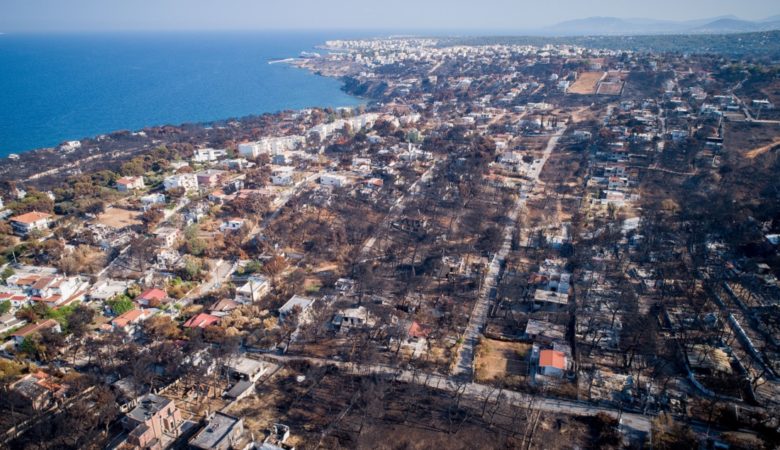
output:
<path id="1" fill-rule="evenodd" d="M 777 0 L 0 0 L 0 32 L 221 29 L 522 30 L 590 16 L 780 14 Z"/>

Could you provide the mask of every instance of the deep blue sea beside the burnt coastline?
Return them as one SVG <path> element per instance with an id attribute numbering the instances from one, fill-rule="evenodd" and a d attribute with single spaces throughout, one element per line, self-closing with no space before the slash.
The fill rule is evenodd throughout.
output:
<path id="1" fill-rule="evenodd" d="M 116 130 L 352 106 L 287 64 L 314 32 L 0 35 L 0 156 Z"/>

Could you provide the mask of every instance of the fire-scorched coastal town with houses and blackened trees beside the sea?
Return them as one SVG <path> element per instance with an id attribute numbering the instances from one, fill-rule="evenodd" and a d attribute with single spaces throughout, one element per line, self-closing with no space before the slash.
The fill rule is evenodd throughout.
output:
<path id="1" fill-rule="evenodd" d="M 0 448 L 780 444 L 776 65 L 320 50 L 364 105 L 0 163 Z"/>

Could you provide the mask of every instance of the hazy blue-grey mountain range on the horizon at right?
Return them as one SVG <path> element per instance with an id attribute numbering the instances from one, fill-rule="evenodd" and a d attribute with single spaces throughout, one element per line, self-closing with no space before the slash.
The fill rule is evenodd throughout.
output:
<path id="1" fill-rule="evenodd" d="M 643 18 L 588 17 L 568 20 L 536 30 L 535 34 L 556 36 L 639 35 L 639 34 L 722 34 L 780 29 L 780 15 L 760 21 L 736 16 L 673 21 Z"/>

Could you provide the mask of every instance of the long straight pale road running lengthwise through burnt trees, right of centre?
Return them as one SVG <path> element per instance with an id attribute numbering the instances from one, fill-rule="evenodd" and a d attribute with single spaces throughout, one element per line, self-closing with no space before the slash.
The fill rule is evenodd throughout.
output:
<path id="1" fill-rule="evenodd" d="M 547 147 L 544 149 L 539 164 L 534 165 L 534 169 L 529 172 L 528 176 L 531 179 L 531 183 L 536 184 L 539 182 L 539 175 L 542 173 L 544 165 L 550 158 L 555 145 L 558 143 L 565 128 L 560 128 L 549 140 Z M 458 360 L 453 368 L 452 374 L 456 377 L 463 379 L 471 379 L 474 371 L 474 352 L 477 344 L 479 343 L 479 337 L 482 334 L 483 328 L 487 323 L 488 310 L 490 304 L 496 296 L 496 286 L 498 284 L 498 277 L 501 272 L 501 266 L 504 264 L 506 256 L 509 254 L 509 250 L 512 247 L 512 235 L 515 232 L 517 226 L 517 216 L 520 211 L 525 207 L 526 199 L 523 196 L 519 196 L 515 202 L 515 206 L 508 214 L 509 222 L 504 228 L 504 241 L 501 244 L 501 248 L 493 256 L 490 265 L 488 266 L 487 274 L 485 275 L 485 281 L 482 284 L 482 289 L 479 292 L 476 303 L 474 303 L 474 309 L 471 311 L 469 317 L 469 323 L 466 326 L 466 330 L 463 332 L 461 339 L 463 343 L 458 349 Z"/>

